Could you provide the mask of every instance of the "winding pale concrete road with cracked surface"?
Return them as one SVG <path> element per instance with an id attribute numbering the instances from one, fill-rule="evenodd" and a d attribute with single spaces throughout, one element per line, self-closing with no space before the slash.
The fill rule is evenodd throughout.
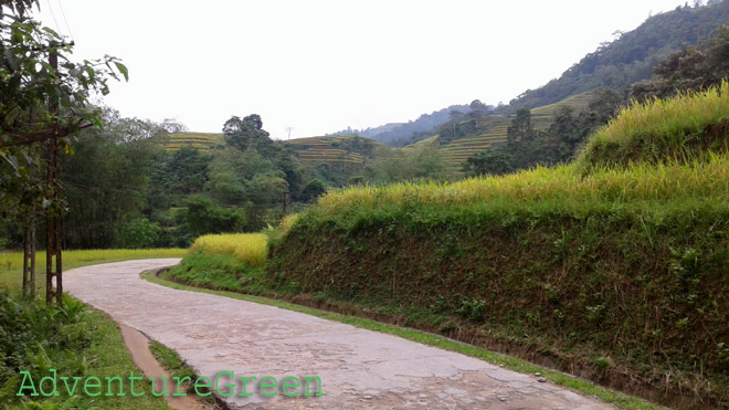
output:
<path id="1" fill-rule="evenodd" d="M 222 397 L 231 408 L 612 408 L 468 356 L 277 307 L 176 291 L 139 277 L 142 271 L 178 262 L 159 259 L 76 269 L 64 274 L 64 285 L 118 323 L 175 349 L 199 375 L 213 382 L 220 376 L 223 395 L 230 391 L 224 385 L 232 381 L 221 371 L 233 372 L 234 395 Z M 266 379 L 264 385 L 278 386 L 263 386 L 263 391 L 277 396 L 262 393 L 262 379 L 267 376 L 275 380 Z M 239 377 L 247 379 L 245 388 Z M 321 380 L 320 390 L 315 377 Z M 305 385 L 311 396 L 304 396 Z M 244 392 L 252 396 L 240 396 Z"/>

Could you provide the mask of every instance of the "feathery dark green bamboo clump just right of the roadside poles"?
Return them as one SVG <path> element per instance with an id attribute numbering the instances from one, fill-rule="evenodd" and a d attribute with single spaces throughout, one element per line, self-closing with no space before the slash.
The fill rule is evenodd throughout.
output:
<path id="1" fill-rule="evenodd" d="M 62 158 L 61 178 L 68 212 L 63 218 L 66 246 L 115 245 L 119 229 L 147 208 L 150 174 L 161 148 L 129 134 L 129 118 L 105 109 L 103 129 L 80 132 L 74 155 Z M 139 128 L 156 127 L 147 124 Z"/>

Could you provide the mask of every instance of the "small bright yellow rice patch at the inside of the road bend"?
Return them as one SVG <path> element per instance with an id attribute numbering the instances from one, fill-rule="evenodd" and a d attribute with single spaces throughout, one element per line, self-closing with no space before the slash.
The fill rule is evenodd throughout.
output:
<path id="1" fill-rule="evenodd" d="M 263 265 L 268 255 L 268 240 L 263 233 L 211 234 L 198 238 L 191 250 L 230 254 L 252 267 Z"/>

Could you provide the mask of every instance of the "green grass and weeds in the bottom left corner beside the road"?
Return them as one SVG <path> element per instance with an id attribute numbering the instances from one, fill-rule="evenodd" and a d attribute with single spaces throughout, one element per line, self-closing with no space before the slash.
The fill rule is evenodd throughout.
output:
<path id="1" fill-rule="evenodd" d="M 142 376 L 131 360 L 122 334 L 110 318 L 98 311 L 85 308 L 78 301 L 65 298 L 65 307 L 46 308 L 40 303 L 0 294 L 3 355 L 0 358 L 0 408 L 2 409 L 168 409 L 162 398 L 150 393 L 133 397 L 89 397 L 83 390 L 68 397 L 63 385 L 60 397 L 17 397 L 21 370 L 30 371 L 34 385 L 50 376 L 82 378 Z M 12 316 L 9 316 L 12 315 Z M 9 350 L 10 349 L 10 350 Z M 140 385 L 141 383 L 141 385 Z M 137 381 L 137 391 L 150 391 L 149 381 Z M 47 391 L 47 387 L 46 387 Z M 27 391 L 29 392 L 29 391 Z M 29 392 L 30 393 L 30 392 Z"/>

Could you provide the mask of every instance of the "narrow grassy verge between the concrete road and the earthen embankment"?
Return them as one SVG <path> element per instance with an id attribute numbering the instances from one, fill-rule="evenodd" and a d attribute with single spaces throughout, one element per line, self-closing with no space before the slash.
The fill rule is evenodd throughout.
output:
<path id="1" fill-rule="evenodd" d="M 533 364 L 530 364 L 526 360 L 521 360 L 518 358 L 509 357 L 509 356 L 504 356 L 499 355 L 489 350 L 486 350 L 484 348 L 473 346 L 473 345 L 467 345 L 463 344 L 459 341 L 455 341 L 448 338 L 444 338 L 442 336 L 435 335 L 435 334 L 430 334 L 421 330 L 415 330 L 411 328 L 403 328 L 399 327 L 395 325 L 390 325 L 390 324 L 384 324 L 380 323 L 377 320 L 368 319 L 368 318 L 362 318 L 362 317 L 357 317 L 357 316 L 349 316 L 349 315 L 342 315 L 334 312 L 327 312 L 327 311 L 321 311 L 313 307 L 307 307 L 303 305 L 297 305 L 294 303 L 289 302 L 284 302 L 282 299 L 275 299 L 275 298 L 268 298 L 268 297 L 263 297 L 263 296 L 256 296 L 256 295 L 250 295 L 250 294 L 242 294 L 242 293 L 235 293 L 235 292 L 229 292 L 229 291 L 219 291 L 219 290 L 211 290 L 211 288 L 205 288 L 205 287 L 196 287 L 196 286 L 190 286 L 190 285 L 184 285 L 180 284 L 177 282 L 173 282 L 170 280 L 169 274 L 162 275 L 163 277 L 158 277 L 155 276 L 151 272 L 145 272 L 142 274 L 142 277 L 151 283 L 156 283 L 162 286 L 168 286 L 171 288 L 177 288 L 177 290 L 183 290 L 183 291 L 192 291 L 192 292 L 201 292 L 201 293 L 208 293 L 208 294 L 213 294 L 213 295 L 220 295 L 220 296 L 225 296 L 225 297 L 232 297 L 236 299 L 242 299 L 242 301 L 249 301 L 249 302 L 254 302 L 254 303 L 260 303 L 264 305 L 270 305 L 270 306 L 276 306 L 281 308 L 285 308 L 288 311 L 294 311 L 294 312 L 299 312 L 304 313 L 307 315 L 313 315 L 317 317 L 321 317 L 325 319 L 329 320 L 336 320 L 340 323 L 345 323 L 348 325 L 357 326 L 360 328 L 369 329 L 369 330 L 374 330 L 374 332 L 380 332 L 384 334 L 390 334 L 394 336 L 399 336 L 409 340 L 413 340 L 416 343 L 421 343 L 424 345 L 430 345 L 434 346 L 437 348 L 442 348 L 445 350 L 451 350 L 451 351 L 456 351 L 461 353 L 467 356 L 476 357 L 482 360 L 486 360 L 488 362 L 492 362 L 494 365 L 498 366 L 504 366 L 505 368 L 525 372 L 525 374 L 533 374 L 533 372 L 540 372 L 543 377 L 547 379 L 551 380 L 552 382 L 568 387 L 570 389 L 573 389 L 575 391 L 579 391 L 583 395 L 589 395 L 589 396 L 594 396 L 596 398 L 600 398 L 601 400 L 608 402 L 608 403 L 613 403 L 621 409 L 659 409 L 661 407 L 655 406 L 653 403 L 648 403 L 646 401 L 643 401 L 638 398 L 627 396 L 621 392 L 616 392 L 610 389 L 605 389 L 603 387 L 600 387 L 595 383 L 592 383 L 588 380 L 575 378 L 570 375 L 566 375 L 559 371 L 554 371 L 551 369 L 547 369 L 540 366 L 536 366 Z M 214 282 L 209 282 L 208 286 L 214 287 Z M 271 294 L 268 296 L 276 296 L 275 294 Z"/>

